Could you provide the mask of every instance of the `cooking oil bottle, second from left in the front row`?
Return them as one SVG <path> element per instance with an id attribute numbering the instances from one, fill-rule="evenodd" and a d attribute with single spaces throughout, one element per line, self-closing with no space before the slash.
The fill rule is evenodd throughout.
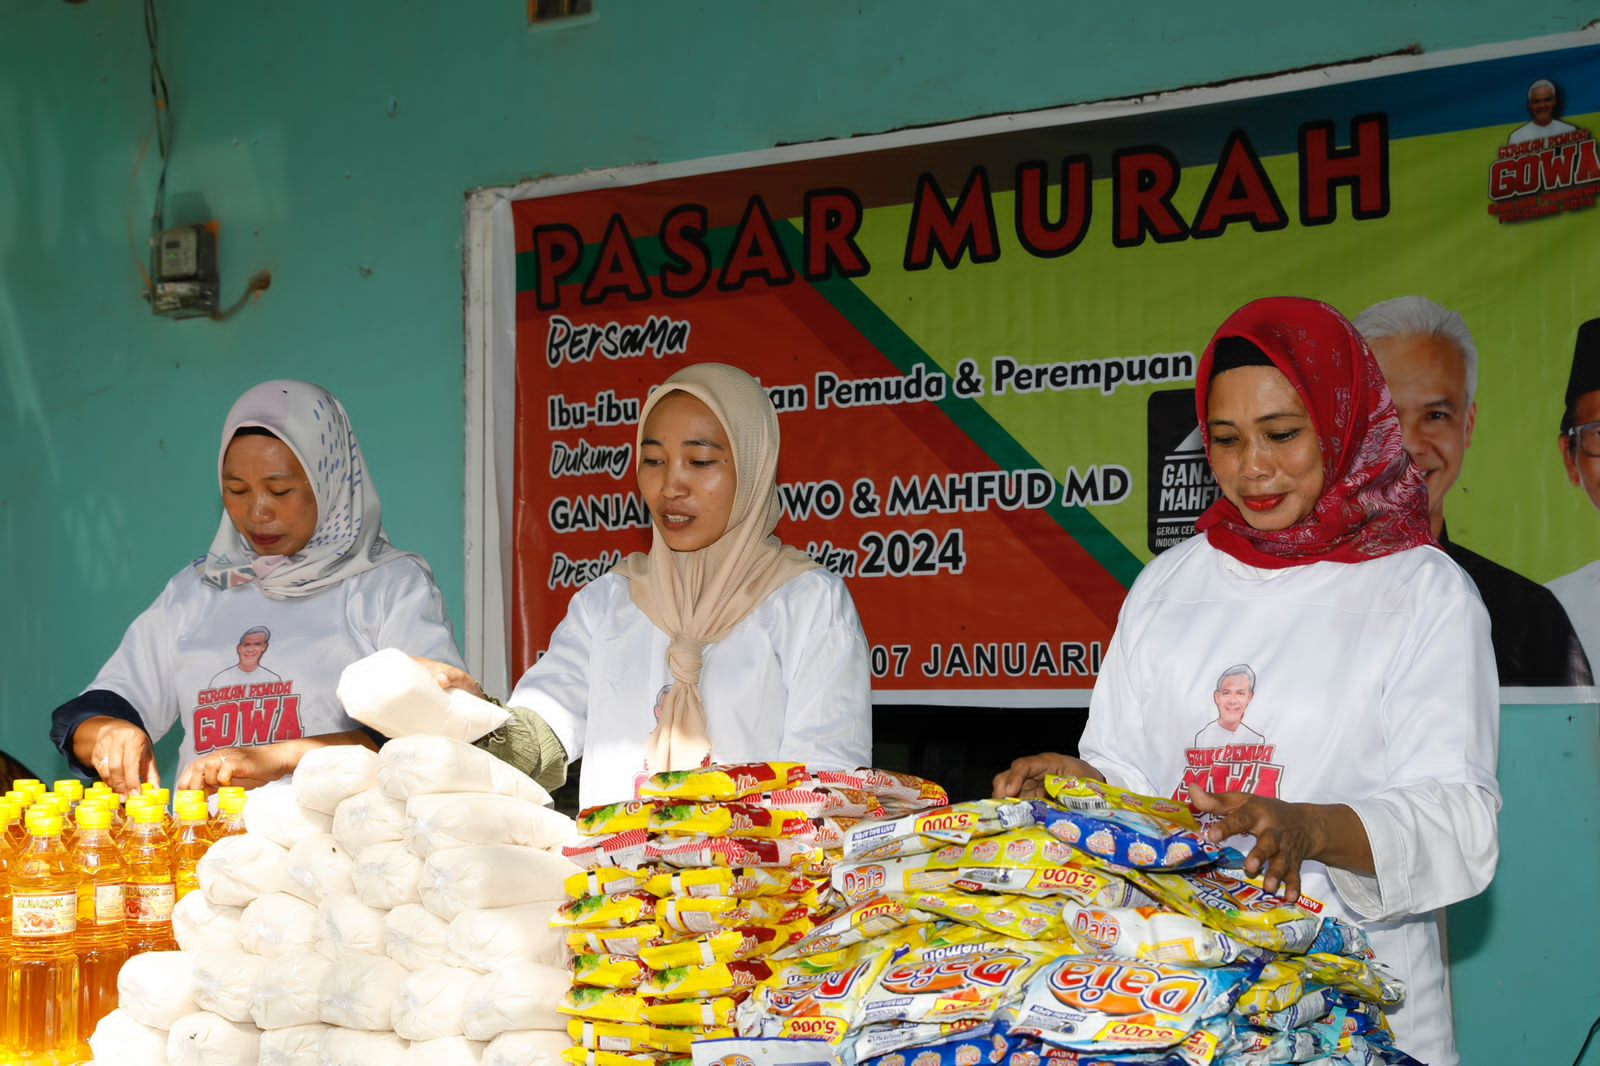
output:
<path id="1" fill-rule="evenodd" d="M 117 973 L 128 960 L 128 868 L 110 839 L 110 810 L 104 804 L 78 804 L 78 844 L 72 864 L 78 872 L 78 1045 L 82 1060 L 93 1058 L 88 1037 L 99 1020 L 117 1008 Z"/>

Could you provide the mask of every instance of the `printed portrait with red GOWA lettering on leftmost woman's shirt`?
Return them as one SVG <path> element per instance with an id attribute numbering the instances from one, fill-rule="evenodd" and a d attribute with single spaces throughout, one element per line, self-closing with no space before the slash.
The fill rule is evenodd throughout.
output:
<path id="1" fill-rule="evenodd" d="M 262 664 L 270 645 L 272 631 L 251 626 L 238 637 L 237 659 L 195 693 L 197 755 L 304 736 L 294 682 Z"/>

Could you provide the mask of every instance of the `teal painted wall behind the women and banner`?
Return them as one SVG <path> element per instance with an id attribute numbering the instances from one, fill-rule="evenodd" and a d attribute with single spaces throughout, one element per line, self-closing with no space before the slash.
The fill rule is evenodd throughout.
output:
<path id="1" fill-rule="evenodd" d="M 168 221 L 222 221 L 226 298 L 253 271 L 274 274 L 258 304 L 216 325 L 158 320 L 139 299 L 136 242 L 157 173 L 139 5 L 0 0 L 0 746 L 59 771 L 50 707 L 205 549 L 221 418 L 269 376 L 344 399 L 392 538 L 434 563 L 459 616 L 467 189 L 1600 18 L 1594 0 L 595 3 L 592 18 L 530 29 L 523 0 L 160 0 L 178 123 Z M 1590 800 L 1579 839 L 1592 860 L 1587 714 L 1557 733 L 1576 752 L 1558 779 Z M 1507 800 L 1507 824 L 1526 815 L 1517 824 L 1530 836 L 1507 842 L 1493 909 L 1462 919 L 1483 933 L 1458 1002 L 1464 1026 L 1485 1032 L 1496 1018 L 1549 1023 L 1542 997 L 1514 1008 L 1491 996 L 1491 964 L 1515 954 L 1510 919 L 1533 920 L 1507 885 L 1536 884 L 1517 871 L 1533 871 L 1533 842 L 1552 839 L 1533 816 L 1552 779 L 1550 738 L 1514 728 L 1523 715 L 1507 711 L 1502 767 L 1507 795 L 1530 797 Z M 1576 884 L 1592 914 L 1592 863 Z M 1565 956 L 1587 967 L 1579 991 L 1600 965 L 1589 935 L 1587 956 Z M 1566 1061 L 1557 1052 L 1576 1050 L 1565 1024 L 1579 1008 L 1566 1010 L 1542 1037 L 1555 1056 L 1523 1040 L 1522 1061 Z M 1467 1061 L 1496 1058 L 1467 1050 Z"/>

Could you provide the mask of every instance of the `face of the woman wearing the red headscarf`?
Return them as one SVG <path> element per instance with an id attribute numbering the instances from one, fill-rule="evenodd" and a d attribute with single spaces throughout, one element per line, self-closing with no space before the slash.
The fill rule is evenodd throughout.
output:
<path id="1" fill-rule="evenodd" d="M 1258 530 L 1285 530 L 1322 495 L 1322 445 L 1310 413 L 1277 367 L 1237 367 L 1211 379 L 1211 474 Z"/>

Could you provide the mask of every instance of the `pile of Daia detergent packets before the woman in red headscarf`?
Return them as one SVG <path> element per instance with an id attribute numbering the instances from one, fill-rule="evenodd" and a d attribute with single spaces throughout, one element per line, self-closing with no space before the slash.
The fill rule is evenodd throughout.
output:
<path id="1" fill-rule="evenodd" d="M 1413 1061 L 1360 930 L 1267 895 L 1181 804 L 1048 787 L 850 828 L 846 909 L 773 954 L 739 1036 L 845 1066 Z"/>

